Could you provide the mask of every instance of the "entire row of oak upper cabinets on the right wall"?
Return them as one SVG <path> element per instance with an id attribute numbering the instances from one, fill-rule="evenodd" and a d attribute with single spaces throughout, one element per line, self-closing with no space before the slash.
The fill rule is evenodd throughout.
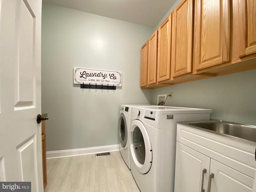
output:
<path id="1" fill-rule="evenodd" d="M 256 0 L 181 0 L 141 54 L 143 88 L 255 69 Z"/>

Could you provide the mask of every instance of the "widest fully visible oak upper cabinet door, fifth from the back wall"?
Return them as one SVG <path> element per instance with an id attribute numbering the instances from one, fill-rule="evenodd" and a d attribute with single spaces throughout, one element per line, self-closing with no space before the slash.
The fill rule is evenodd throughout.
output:
<path id="1" fill-rule="evenodd" d="M 195 70 L 230 60 L 230 1 L 195 0 Z"/>

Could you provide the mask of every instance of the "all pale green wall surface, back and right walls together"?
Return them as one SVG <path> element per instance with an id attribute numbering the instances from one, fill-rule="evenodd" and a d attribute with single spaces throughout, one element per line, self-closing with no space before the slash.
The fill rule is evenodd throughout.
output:
<path id="1" fill-rule="evenodd" d="M 157 104 L 157 95 L 169 92 L 173 99 L 167 99 L 168 106 L 210 108 L 212 119 L 256 125 L 256 70 L 140 89 L 140 48 L 155 29 L 43 4 L 42 113 L 50 118 L 47 151 L 118 144 L 120 104 Z M 122 87 L 80 89 L 73 84 L 73 67 L 121 71 Z"/>

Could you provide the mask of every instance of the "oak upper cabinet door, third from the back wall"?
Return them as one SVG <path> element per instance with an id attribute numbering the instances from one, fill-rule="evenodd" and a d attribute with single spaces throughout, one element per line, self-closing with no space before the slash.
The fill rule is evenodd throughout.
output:
<path id="1" fill-rule="evenodd" d="M 172 14 L 158 28 L 157 81 L 170 79 Z"/>

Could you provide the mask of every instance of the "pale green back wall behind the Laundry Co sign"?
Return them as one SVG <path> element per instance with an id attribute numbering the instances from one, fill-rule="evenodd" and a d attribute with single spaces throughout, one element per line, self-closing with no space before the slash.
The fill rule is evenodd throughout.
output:
<path id="1" fill-rule="evenodd" d="M 46 150 L 118 144 L 120 104 L 150 104 L 140 89 L 140 48 L 153 28 L 42 6 L 42 113 Z M 73 67 L 122 72 L 116 90 L 80 89 Z"/>

